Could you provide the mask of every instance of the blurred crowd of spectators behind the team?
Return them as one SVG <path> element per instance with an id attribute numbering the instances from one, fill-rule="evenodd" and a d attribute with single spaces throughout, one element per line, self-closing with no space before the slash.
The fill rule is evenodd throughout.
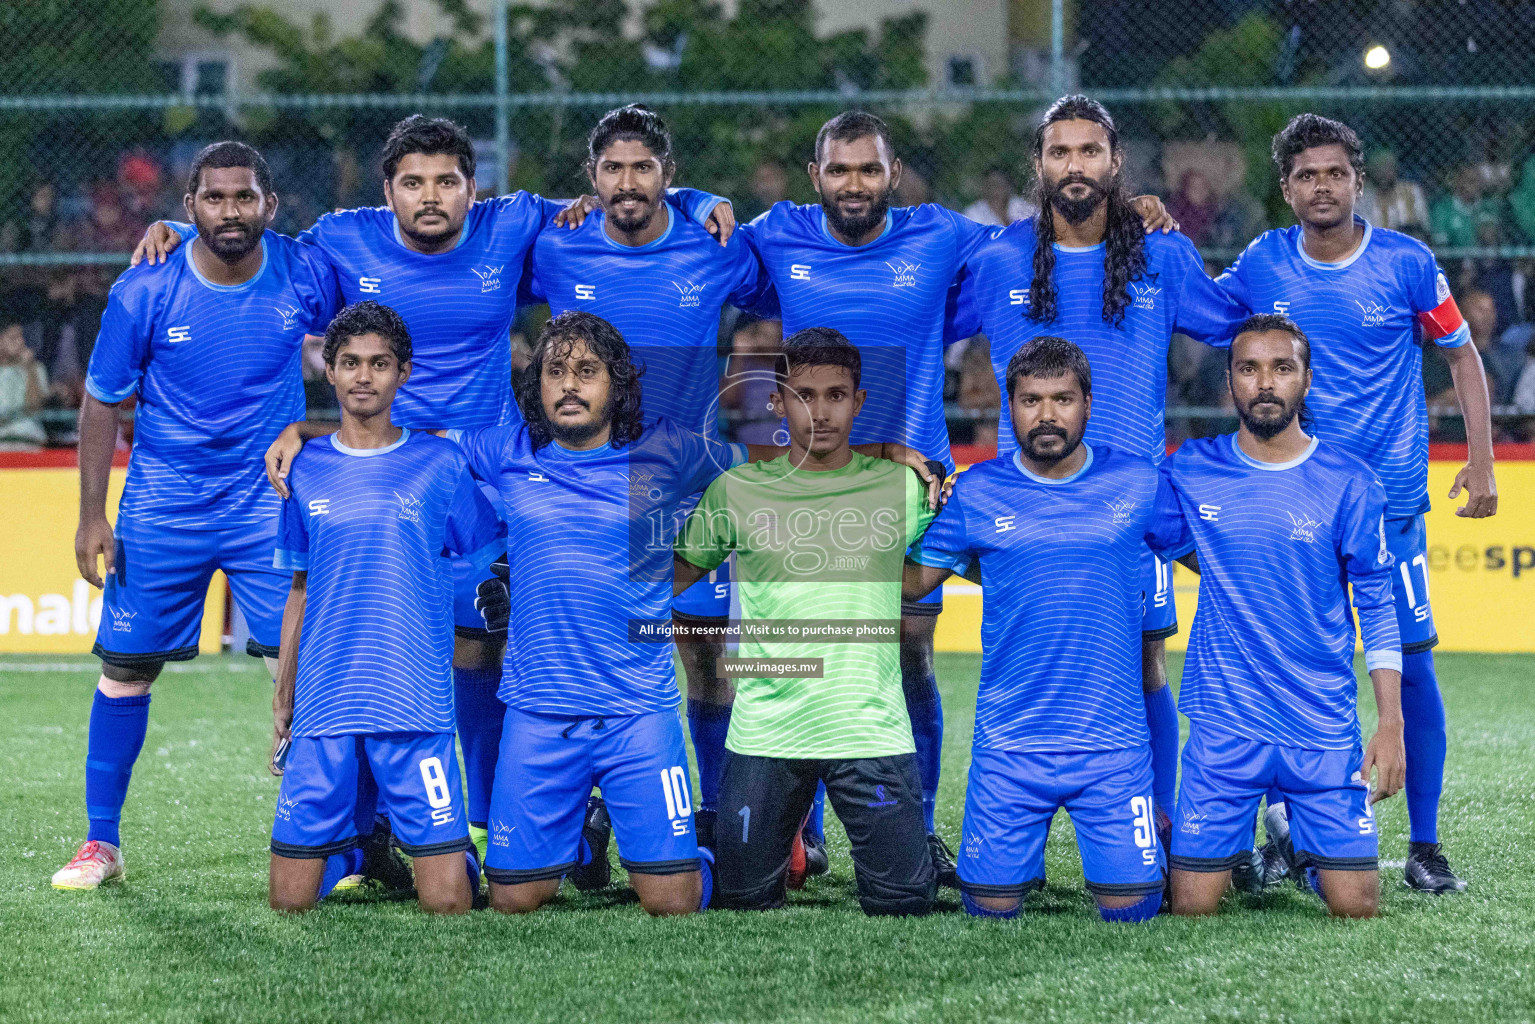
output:
<path id="1" fill-rule="evenodd" d="M 190 152 L 190 150 L 189 150 Z M 315 154 L 278 154 L 275 164 L 307 169 L 279 173 L 298 186 L 282 192 L 278 230 L 307 227 L 333 201 L 376 201 L 365 193 L 356 161 L 316 160 Z M 129 150 L 111 178 L 66 187 L 37 181 L 25 206 L 0 221 L 0 253 L 126 253 L 157 218 L 183 218 L 184 164 L 189 154 L 155 155 Z M 322 167 L 324 181 L 315 180 Z M 276 167 L 275 167 L 276 169 Z M 1266 173 L 1266 167 L 1263 169 Z M 798 166 L 763 160 L 734 197 L 740 220 L 795 197 Z M 1248 169 L 1234 146 L 1168 143 L 1131 167 L 1131 180 L 1164 197 L 1182 230 L 1211 253 L 1207 269 L 1222 266 L 1269 224 L 1248 187 Z M 967 181 L 961 195 L 941 195 L 935 175 L 916 158 L 906 164 L 896 204 L 938 201 L 984 224 L 1005 226 L 1033 216 L 1035 204 L 1016 169 L 987 167 Z M 1535 157 L 1521 167 L 1497 161 L 1464 163 L 1438 181 L 1417 181 L 1397 155 L 1369 157 L 1360 212 L 1371 223 L 1411 233 L 1441 253 L 1446 273 L 1472 341 L 1481 352 L 1494 407 L 1514 415 L 1494 421 L 1497 441 L 1535 439 L 1535 263 L 1490 258 L 1477 250 L 1535 244 Z M 318 198 L 316 198 L 318 197 Z M 803 197 L 795 197 L 803 198 Z M 71 411 L 83 398 L 106 293 L 121 264 L 28 264 L 0 269 L 0 450 L 74 444 Z M 539 327 L 539 313 L 519 319 L 513 339 L 514 368 L 527 353 L 525 339 Z M 775 422 L 766 411 L 766 375 L 777 350 L 778 324 L 738 316 L 721 324 L 721 416 L 731 433 L 769 441 Z M 999 393 L 985 338 L 953 345 L 946 358 L 946 399 L 956 444 L 989 445 L 996 438 Z M 324 382 L 318 352 L 305 353 L 310 405 L 330 408 L 335 398 Z M 1174 338 L 1168 355 L 1168 439 L 1177 442 L 1230 428 L 1233 421 L 1183 410 L 1230 410 L 1225 359 L 1188 338 Z M 1424 352 L 1423 381 L 1435 441 L 1463 441 L 1449 368 L 1432 348 Z"/>

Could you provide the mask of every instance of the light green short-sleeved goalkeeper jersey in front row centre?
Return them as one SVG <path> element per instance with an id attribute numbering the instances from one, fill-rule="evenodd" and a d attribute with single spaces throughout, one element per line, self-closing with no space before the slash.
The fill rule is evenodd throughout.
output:
<path id="1" fill-rule="evenodd" d="M 901 692 L 901 567 L 932 517 L 909 467 L 857 451 L 824 473 L 783 456 L 715 477 L 677 554 L 712 570 L 735 551 L 738 657 L 784 669 L 737 679 L 726 748 L 794 758 L 916 749 Z"/>

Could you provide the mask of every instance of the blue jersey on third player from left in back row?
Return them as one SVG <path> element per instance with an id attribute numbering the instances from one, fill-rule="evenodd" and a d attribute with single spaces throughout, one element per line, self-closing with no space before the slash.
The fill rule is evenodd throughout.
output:
<path id="1" fill-rule="evenodd" d="M 755 302 L 760 264 L 744 238 L 721 247 L 701 224 L 663 210 L 666 230 L 645 246 L 609 238 L 602 210 L 576 230 L 543 232 L 530 258 L 528 292 L 554 315 L 579 309 L 619 329 L 645 367 L 646 422 L 668 419 L 714 436 L 720 310 Z"/>

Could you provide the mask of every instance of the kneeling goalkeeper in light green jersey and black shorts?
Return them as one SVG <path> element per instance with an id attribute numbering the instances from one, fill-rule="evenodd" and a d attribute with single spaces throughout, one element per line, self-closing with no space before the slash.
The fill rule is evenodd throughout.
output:
<path id="1" fill-rule="evenodd" d="M 880 629 L 898 629 L 903 554 L 932 513 L 910 471 L 847 445 L 866 396 L 858 348 L 812 327 L 783 352 L 774 411 L 787 419 L 789 453 L 709 485 L 677 542 L 675 590 L 734 551 L 743 629 L 798 620 L 847 639 L 743 633 L 741 657 L 781 671 L 740 680 L 720 788 L 718 903 L 783 906 L 800 823 L 824 786 L 864 912 L 927 913 L 936 870 L 900 660 Z"/>

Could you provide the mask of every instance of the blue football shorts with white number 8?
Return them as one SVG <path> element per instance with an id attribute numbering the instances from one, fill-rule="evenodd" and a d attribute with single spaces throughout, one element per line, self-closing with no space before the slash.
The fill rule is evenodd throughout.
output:
<path id="1" fill-rule="evenodd" d="M 313 858 L 352 849 L 359 818 L 370 823 L 375 806 L 388 808 L 394 841 L 410 857 L 473 849 L 453 734 L 379 732 L 293 737 L 272 852 Z"/>

